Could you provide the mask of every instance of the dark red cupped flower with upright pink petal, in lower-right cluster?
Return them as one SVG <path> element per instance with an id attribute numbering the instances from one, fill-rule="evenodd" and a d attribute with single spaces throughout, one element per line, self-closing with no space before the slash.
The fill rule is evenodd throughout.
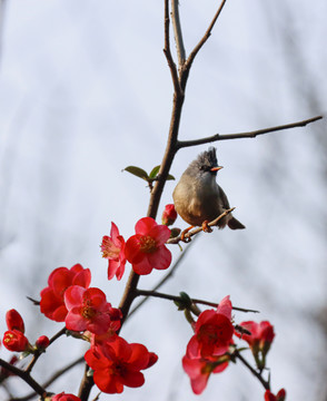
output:
<path id="1" fill-rule="evenodd" d="M 231 302 L 229 296 L 225 296 L 217 311 L 207 310 L 199 315 L 189 346 L 198 349 L 204 358 L 225 354 L 232 343 L 234 326 L 230 320 Z"/>

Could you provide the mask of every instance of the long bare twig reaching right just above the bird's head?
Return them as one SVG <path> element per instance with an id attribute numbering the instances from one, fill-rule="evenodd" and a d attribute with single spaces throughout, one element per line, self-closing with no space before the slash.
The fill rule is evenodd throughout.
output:
<path id="1" fill-rule="evenodd" d="M 212 135 L 210 137 L 201 138 L 201 139 L 179 140 L 177 146 L 180 149 L 180 148 L 189 147 L 189 146 L 198 146 L 198 145 L 202 145 L 202 144 L 209 144 L 209 143 L 217 141 L 217 140 L 240 139 L 240 138 L 256 138 L 257 136 L 264 135 L 264 134 L 275 133 L 275 131 L 296 128 L 296 127 L 305 127 L 306 125 L 315 123 L 315 121 L 317 121 L 317 120 L 319 120 L 321 118 L 324 118 L 324 117 L 323 116 L 317 116 L 317 117 L 308 118 L 308 119 L 303 120 L 303 121 L 290 123 L 290 124 L 285 124 L 285 125 L 280 125 L 280 126 L 276 126 L 276 127 L 257 129 L 257 130 L 247 131 L 247 133 L 224 134 L 224 135 L 216 134 L 216 135 Z"/>

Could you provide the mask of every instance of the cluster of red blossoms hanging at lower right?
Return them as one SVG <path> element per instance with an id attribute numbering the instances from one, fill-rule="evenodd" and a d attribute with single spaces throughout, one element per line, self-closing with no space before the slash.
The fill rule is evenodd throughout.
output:
<path id="1" fill-rule="evenodd" d="M 206 389 L 211 373 L 222 372 L 230 361 L 235 361 L 237 346 L 234 334 L 248 343 L 259 371 L 266 366 L 266 355 L 275 336 L 272 325 L 248 321 L 240 323 L 236 330 L 231 310 L 229 296 L 225 296 L 216 310 L 201 312 L 191 323 L 194 335 L 182 358 L 182 366 L 196 394 Z M 285 397 L 285 390 L 277 395 L 267 390 L 265 401 L 284 401 Z"/>

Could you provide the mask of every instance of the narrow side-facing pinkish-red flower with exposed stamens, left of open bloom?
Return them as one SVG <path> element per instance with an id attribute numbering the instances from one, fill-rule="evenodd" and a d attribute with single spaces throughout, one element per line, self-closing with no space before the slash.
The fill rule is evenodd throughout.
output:
<path id="1" fill-rule="evenodd" d="M 119 235 L 118 227 L 111 222 L 110 236 L 105 235 L 101 244 L 102 257 L 108 260 L 108 280 L 115 275 L 120 280 L 125 272 L 125 239 Z"/>

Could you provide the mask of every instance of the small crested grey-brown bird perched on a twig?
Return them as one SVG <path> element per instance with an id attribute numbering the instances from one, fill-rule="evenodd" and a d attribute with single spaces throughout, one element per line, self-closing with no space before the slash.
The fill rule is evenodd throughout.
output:
<path id="1" fill-rule="evenodd" d="M 176 212 L 191 226 L 205 226 L 229 209 L 229 203 L 222 188 L 216 183 L 218 166 L 216 148 L 209 147 L 201 153 L 180 177 L 172 193 Z M 245 228 L 231 213 L 218 222 L 218 227 L 226 224 L 231 229 Z M 191 228 L 191 227 L 190 227 Z"/>

